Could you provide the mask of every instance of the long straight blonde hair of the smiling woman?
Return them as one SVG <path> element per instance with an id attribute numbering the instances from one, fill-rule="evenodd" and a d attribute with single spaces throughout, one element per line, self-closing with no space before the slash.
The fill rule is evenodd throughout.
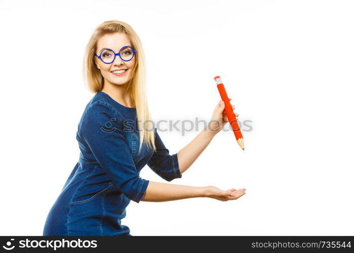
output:
<path id="1" fill-rule="evenodd" d="M 96 27 L 86 46 L 83 66 L 84 79 L 92 93 L 97 93 L 103 89 L 104 78 L 94 61 L 97 51 L 97 41 L 105 34 L 116 32 L 126 34 L 131 41 L 131 46 L 136 50 L 136 55 L 134 56 L 136 57 L 135 66 L 132 71 L 131 79 L 128 82 L 127 89 L 137 111 L 138 126 L 140 130 L 139 152 L 143 142 L 149 147 L 151 147 L 152 144 L 153 149 L 156 150 L 154 131 L 151 131 L 154 128 L 151 122 L 152 120 L 150 119 L 146 98 L 145 55 L 141 41 L 130 25 L 122 21 L 110 20 L 105 21 Z M 143 127 L 143 122 L 145 123 L 145 128 Z"/>

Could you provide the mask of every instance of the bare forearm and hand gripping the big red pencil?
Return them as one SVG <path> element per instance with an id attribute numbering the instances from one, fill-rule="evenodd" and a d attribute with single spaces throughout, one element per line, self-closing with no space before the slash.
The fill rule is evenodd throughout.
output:
<path id="1" fill-rule="evenodd" d="M 229 100 L 231 100 L 229 98 Z M 225 116 L 225 104 L 222 101 L 216 105 L 212 118 L 210 119 L 206 128 L 203 129 L 187 146 L 182 148 L 177 153 L 179 170 L 181 174 L 192 165 L 192 163 L 199 157 L 199 155 L 209 145 L 213 137 L 221 131 L 223 126 L 228 122 Z M 232 110 L 234 106 L 232 105 Z M 239 114 L 235 113 L 236 116 Z"/>

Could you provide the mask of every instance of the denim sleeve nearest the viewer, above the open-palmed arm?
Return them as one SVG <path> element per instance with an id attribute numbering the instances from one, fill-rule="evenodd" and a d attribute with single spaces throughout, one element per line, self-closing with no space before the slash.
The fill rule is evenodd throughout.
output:
<path id="1" fill-rule="evenodd" d="M 79 131 L 112 183 L 139 203 L 149 180 L 139 177 L 124 137 L 124 122 L 113 107 L 103 101 L 90 105 L 84 112 Z"/>

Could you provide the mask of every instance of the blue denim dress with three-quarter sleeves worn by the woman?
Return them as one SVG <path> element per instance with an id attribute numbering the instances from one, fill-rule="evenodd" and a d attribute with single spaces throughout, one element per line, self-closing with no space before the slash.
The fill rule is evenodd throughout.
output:
<path id="1" fill-rule="evenodd" d="M 136 108 L 96 93 L 78 123 L 80 157 L 48 214 L 44 236 L 131 235 L 122 225 L 131 200 L 139 203 L 149 180 L 139 176 L 147 164 L 161 178 L 181 178 L 177 153 L 169 154 L 157 130 L 156 151 L 139 151 Z"/>

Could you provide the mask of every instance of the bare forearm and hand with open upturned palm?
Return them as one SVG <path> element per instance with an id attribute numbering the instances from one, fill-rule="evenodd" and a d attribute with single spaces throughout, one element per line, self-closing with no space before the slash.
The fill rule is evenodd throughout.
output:
<path id="1" fill-rule="evenodd" d="M 209 197 L 221 201 L 234 200 L 243 196 L 245 188 L 223 191 L 214 186 L 174 185 L 149 181 L 141 201 L 163 202 L 185 198 Z"/>

